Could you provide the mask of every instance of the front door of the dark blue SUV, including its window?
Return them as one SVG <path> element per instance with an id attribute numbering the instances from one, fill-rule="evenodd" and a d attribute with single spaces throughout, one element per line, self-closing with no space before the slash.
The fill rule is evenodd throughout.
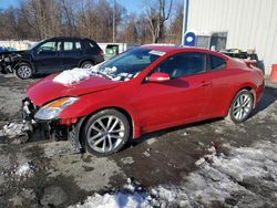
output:
<path id="1" fill-rule="evenodd" d="M 33 63 L 39 73 L 54 73 L 62 69 L 61 41 L 47 41 L 33 51 Z"/>

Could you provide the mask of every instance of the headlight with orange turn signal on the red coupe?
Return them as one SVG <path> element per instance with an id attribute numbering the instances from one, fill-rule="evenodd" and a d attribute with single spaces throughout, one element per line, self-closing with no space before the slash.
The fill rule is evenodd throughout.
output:
<path id="1" fill-rule="evenodd" d="M 42 106 L 34 115 L 35 119 L 53 119 L 69 105 L 76 102 L 78 97 L 63 97 Z"/>

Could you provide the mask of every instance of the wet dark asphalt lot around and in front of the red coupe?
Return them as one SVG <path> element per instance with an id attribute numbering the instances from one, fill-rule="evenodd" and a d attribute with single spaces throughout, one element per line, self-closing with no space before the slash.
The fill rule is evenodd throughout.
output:
<path id="1" fill-rule="evenodd" d="M 21 100 L 25 96 L 24 89 L 32 82 L 34 81 L 0 75 L 0 129 L 7 124 L 21 122 Z M 230 154 L 229 146 L 234 152 L 239 147 L 255 149 L 259 147 L 258 143 L 270 143 L 273 154 L 276 154 L 270 156 L 271 174 L 277 175 L 277 85 L 267 82 L 260 103 L 252 117 L 243 124 L 233 125 L 218 118 L 160 131 L 142 136 L 125 149 L 109 157 L 76 154 L 68 142 L 49 141 L 41 134 L 37 134 L 27 143 L 20 143 L 20 138 L 0 136 L 0 207 L 75 205 L 95 191 L 120 189 L 127 178 L 140 183 L 145 189 L 160 185 L 184 186 L 192 173 L 199 171 L 199 159 L 207 155 L 211 148 L 215 149 L 215 155 L 219 157 Z M 22 165 L 25 164 L 29 167 L 28 173 L 22 170 Z M 199 199 L 202 202 L 197 205 L 276 205 L 277 178 L 268 179 L 274 186 L 260 184 L 250 175 L 247 179 L 248 183 L 245 178 L 242 183 L 236 177 L 230 178 L 232 183 L 242 186 L 249 195 L 230 193 L 233 198 L 225 198 L 224 202 L 222 199 L 218 199 L 219 202 L 215 199 L 208 204 L 206 199 Z M 243 196 L 252 198 L 244 200 Z M 189 206 L 197 207 L 192 202 Z"/>

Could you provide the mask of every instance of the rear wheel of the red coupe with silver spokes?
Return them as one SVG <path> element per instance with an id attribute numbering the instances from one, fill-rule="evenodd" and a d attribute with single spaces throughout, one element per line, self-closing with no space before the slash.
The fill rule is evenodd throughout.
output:
<path id="1" fill-rule="evenodd" d="M 246 121 L 254 106 L 254 96 L 253 93 L 248 90 L 242 90 L 239 91 L 235 98 L 232 101 L 227 121 L 230 121 L 233 123 L 242 123 Z"/>

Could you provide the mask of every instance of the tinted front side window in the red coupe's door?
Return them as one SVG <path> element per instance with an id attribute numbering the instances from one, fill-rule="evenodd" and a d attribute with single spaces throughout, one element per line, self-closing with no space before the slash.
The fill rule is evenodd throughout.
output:
<path id="1" fill-rule="evenodd" d="M 155 67 L 154 72 L 167 73 L 172 79 L 205 72 L 206 54 L 178 53 Z"/>

